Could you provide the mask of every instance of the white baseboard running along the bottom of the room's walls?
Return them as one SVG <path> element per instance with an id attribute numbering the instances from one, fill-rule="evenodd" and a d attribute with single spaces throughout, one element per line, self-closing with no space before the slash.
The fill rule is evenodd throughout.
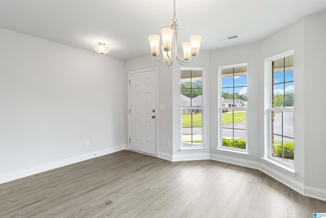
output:
<path id="1" fill-rule="evenodd" d="M 70 157 L 63 160 L 58 160 L 54 162 L 49 162 L 43 165 L 30 167 L 26 169 L 22 169 L 20 171 L 3 174 L 0 176 L 0 184 L 13 181 L 16 179 L 20 179 L 23 177 L 35 175 L 38 173 L 42 173 L 45 171 L 49 171 L 51 169 L 55 169 L 58 167 L 66 166 L 69 164 L 77 163 L 80 161 L 100 157 L 103 155 L 111 154 L 117 151 L 125 150 L 126 146 L 123 144 L 121 146 L 109 148 L 109 149 L 103 149 L 83 155 L 78 155 L 75 157 Z M 276 171 L 275 169 L 271 168 L 270 166 L 263 164 L 262 162 L 255 162 L 250 160 L 245 160 L 241 158 L 236 157 L 229 157 L 219 154 L 211 154 L 208 152 L 198 152 L 198 153 L 181 153 L 177 155 L 171 155 L 164 152 L 157 152 L 157 157 L 169 161 L 187 161 L 187 160 L 216 160 L 221 162 L 226 162 L 230 164 L 240 165 L 244 167 L 254 168 L 258 169 L 259 171 L 265 173 L 266 175 L 278 180 L 279 182 L 283 183 L 284 185 L 292 188 L 293 190 L 301 193 L 304 196 L 319 199 L 322 201 L 326 201 L 326 190 L 305 186 L 294 179 L 291 179 L 287 175 L 282 174 L 281 172 Z"/>

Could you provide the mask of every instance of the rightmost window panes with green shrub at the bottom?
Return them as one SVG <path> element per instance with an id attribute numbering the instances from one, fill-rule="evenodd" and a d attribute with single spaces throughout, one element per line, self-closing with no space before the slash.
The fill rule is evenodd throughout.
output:
<path id="1" fill-rule="evenodd" d="M 293 53 L 270 64 L 270 154 L 286 163 L 294 160 L 294 66 Z"/>

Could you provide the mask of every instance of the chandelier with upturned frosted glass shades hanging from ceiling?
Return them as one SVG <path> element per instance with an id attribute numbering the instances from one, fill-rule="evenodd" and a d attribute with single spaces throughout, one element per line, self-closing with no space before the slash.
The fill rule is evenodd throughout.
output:
<path id="1" fill-rule="evenodd" d="M 199 55 L 199 46 L 202 40 L 201 36 L 191 36 L 189 42 L 182 43 L 183 49 L 183 60 L 178 56 L 178 24 L 175 18 L 175 0 L 173 1 L 173 18 L 171 28 L 164 28 L 161 30 L 162 35 L 162 54 L 163 61 L 159 60 L 159 35 L 150 35 L 148 37 L 149 44 L 151 46 L 152 55 L 155 56 L 156 60 L 161 63 L 167 63 L 171 66 L 173 61 L 176 59 L 180 64 L 192 62 L 196 56 Z"/>

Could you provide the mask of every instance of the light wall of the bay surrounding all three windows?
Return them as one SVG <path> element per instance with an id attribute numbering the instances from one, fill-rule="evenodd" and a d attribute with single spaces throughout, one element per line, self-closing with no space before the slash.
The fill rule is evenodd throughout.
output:
<path id="1" fill-rule="evenodd" d="M 323 41 L 325 31 L 325 11 L 311 15 L 285 27 L 259 42 L 203 52 L 198 60 L 186 66 L 175 63 L 173 70 L 167 70 L 164 64 L 158 63 L 153 57 L 143 57 L 128 61 L 126 68 L 136 70 L 141 68 L 159 67 L 158 101 L 169 102 L 164 114 L 164 125 L 159 124 L 159 150 L 168 153 L 170 160 L 213 159 L 238 165 L 257 168 L 274 177 L 280 182 L 300 191 L 304 195 L 318 199 L 326 199 L 326 174 L 323 162 L 325 146 L 323 143 L 324 117 L 311 111 L 310 106 L 318 102 L 324 108 L 320 93 L 325 92 L 323 85 L 326 80 L 324 58 L 326 47 Z M 317 38 L 317 39 L 316 39 Z M 266 153 L 264 127 L 268 117 L 265 114 L 265 74 L 264 61 L 267 58 L 294 50 L 294 102 L 295 102 L 295 150 L 294 171 L 287 173 L 280 167 L 274 167 L 261 158 Z M 201 59 L 201 58 L 202 59 Z M 216 151 L 218 148 L 218 68 L 225 65 L 248 63 L 248 152 L 246 155 L 226 154 Z M 208 101 L 208 152 L 180 153 L 180 68 L 203 67 L 206 71 L 206 88 Z M 167 71 L 165 71 L 167 70 Z M 164 72 L 163 72 L 164 71 Z M 162 73 L 163 72 L 163 73 Z M 317 79 L 316 79 L 317 78 Z M 317 80 L 317 81 L 316 81 Z M 173 91 L 171 92 L 171 86 Z M 268 85 L 267 85 L 268 86 Z M 173 99 L 169 99 L 169 98 Z M 318 96 L 316 98 L 316 96 Z M 164 98 L 164 101 L 161 100 Z M 159 103 L 160 104 L 160 103 Z M 167 107 L 166 107 L 167 109 Z M 322 113 L 321 113 L 322 114 Z M 171 116 L 173 119 L 171 119 Z M 172 131 L 171 131 L 172 130 Z M 173 137 L 173 148 L 167 150 L 166 140 Z M 206 152 L 207 153 L 207 152 Z M 171 157 L 172 155 L 172 157 Z"/>

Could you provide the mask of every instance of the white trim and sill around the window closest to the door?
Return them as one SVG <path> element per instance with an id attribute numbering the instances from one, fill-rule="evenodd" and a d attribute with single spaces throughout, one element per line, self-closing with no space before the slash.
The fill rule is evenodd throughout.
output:
<path id="1" fill-rule="evenodd" d="M 202 107 L 196 107 L 197 109 L 202 109 L 202 143 L 201 144 L 196 144 L 196 145 L 187 145 L 187 144 L 182 144 L 182 114 L 181 114 L 181 106 L 179 107 L 180 110 L 180 144 L 181 147 L 179 149 L 180 152 L 191 152 L 193 151 L 203 151 L 207 150 L 205 146 L 206 142 L 206 72 L 205 69 L 202 67 L 181 67 L 181 70 L 201 70 L 202 71 Z M 181 89 L 181 85 L 180 85 Z M 189 107 L 184 107 L 184 108 L 189 108 Z"/>

